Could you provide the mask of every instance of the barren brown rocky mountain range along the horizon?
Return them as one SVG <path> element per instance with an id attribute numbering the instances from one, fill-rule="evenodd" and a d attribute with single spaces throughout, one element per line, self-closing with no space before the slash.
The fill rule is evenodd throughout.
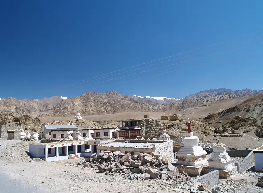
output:
<path id="1" fill-rule="evenodd" d="M 72 116 L 77 111 L 80 111 L 82 115 L 102 115 L 131 111 L 165 112 L 252 96 L 262 92 L 262 90 L 254 91 L 251 89 L 239 91 L 223 88 L 211 89 L 163 104 L 156 104 L 152 101 L 142 102 L 134 96 L 123 96 L 116 91 L 107 91 L 105 93 L 87 92 L 81 96 L 66 99 L 59 96 L 34 100 L 17 100 L 14 97 L 8 97 L 0 100 L 0 112 L 14 113 L 17 116 L 25 114 L 38 115 L 39 117 Z"/>

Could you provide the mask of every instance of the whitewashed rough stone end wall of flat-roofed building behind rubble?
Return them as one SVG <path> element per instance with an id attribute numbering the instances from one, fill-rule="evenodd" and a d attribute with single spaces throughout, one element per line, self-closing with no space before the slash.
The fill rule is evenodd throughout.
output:
<path id="1" fill-rule="evenodd" d="M 169 161 L 174 159 L 173 141 L 166 141 L 160 144 L 155 144 L 154 151 L 160 153 L 161 156 L 165 156 Z"/>

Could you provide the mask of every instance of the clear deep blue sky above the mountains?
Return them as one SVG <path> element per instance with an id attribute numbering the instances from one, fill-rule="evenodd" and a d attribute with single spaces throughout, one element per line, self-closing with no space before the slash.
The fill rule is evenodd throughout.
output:
<path id="1" fill-rule="evenodd" d="M 262 6 L 262 1 L 3 0 L 0 98 L 72 97 L 88 91 L 109 90 L 123 95 L 182 98 L 214 88 L 262 90 L 263 53 L 115 83 L 263 51 L 263 44 L 258 44 L 263 38 L 257 38 L 263 36 L 263 32 L 157 62 L 257 38 L 255 40 L 108 78 L 100 76 L 97 78 L 102 79 L 89 79 L 86 81 L 90 82 L 84 84 L 63 86 L 261 31 Z M 253 46 L 127 76 L 248 45 Z M 118 73 L 150 64 L 154 62 Z M 118 78 L 121 76 L 127 77 Z M 118 79 L 98 83 L 112 78 Z M 87 84 L 93 85 L 84 86 Z M 115 85 L 105 86 L 109 84 Z M 76 88 L 78 86 L 83 87 Z"/>

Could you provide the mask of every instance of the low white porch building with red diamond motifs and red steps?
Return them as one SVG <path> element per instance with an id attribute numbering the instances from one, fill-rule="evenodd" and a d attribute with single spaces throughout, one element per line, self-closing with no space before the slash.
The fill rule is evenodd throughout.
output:
<path id="1" fill-rule="evenodd" d="M 67 140 L 61 142 L 29 144 L 29 154 L 44 161 L 76 159 L 97 153 L 97 145 L 114 140 Z"/>

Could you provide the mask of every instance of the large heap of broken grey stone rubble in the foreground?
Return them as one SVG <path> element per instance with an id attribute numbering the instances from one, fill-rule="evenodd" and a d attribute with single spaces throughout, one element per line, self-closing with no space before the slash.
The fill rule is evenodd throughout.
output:
<path id="1" fill-rule="evenodd" d="M 132 156 L 118 151 L 113 153 L 104 151 L 99 154 L 94 153 L 89 158 L 84 158 L 77 166 L 97 167 L 98 171 L 105 175 L 118 172 L 129 177 L 129 179 L 162 179 L 167 183 L 174 181 L 178 184 L 185 184 L 185 188 L 191 187 L 191 178 L 188 177 L 187 173 L 180 174 L 176 167 L 168 163 L 165 156 L 162 157 L 155 152 L 152 155 L 139 153 L 139 155 Z"/>

